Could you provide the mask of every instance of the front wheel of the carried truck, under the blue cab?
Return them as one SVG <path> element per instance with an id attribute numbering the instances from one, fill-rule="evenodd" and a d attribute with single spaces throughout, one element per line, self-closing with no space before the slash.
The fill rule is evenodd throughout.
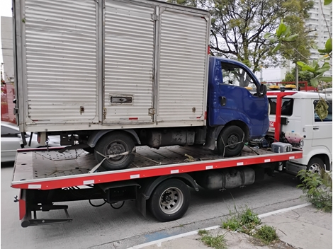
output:
<path id="1" fill-rule="evenodd" d="M 222 156 L 237 156 L 243 147 L 244 132 L 240 127 L 235 125 L 225 127 L 218 135 L 218 151 Z"/>

